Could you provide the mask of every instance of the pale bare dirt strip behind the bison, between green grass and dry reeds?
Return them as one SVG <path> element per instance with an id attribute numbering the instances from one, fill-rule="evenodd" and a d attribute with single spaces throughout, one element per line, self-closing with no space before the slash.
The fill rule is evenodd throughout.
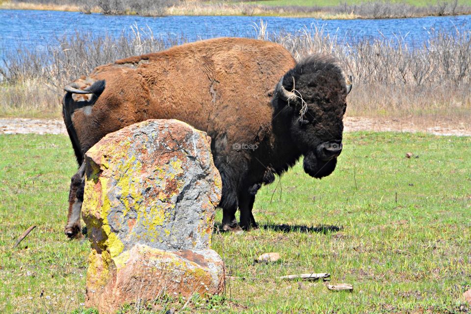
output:
<path id="1" fill-rule="evenodd" d="M 422 125 L 411 121 L 396 119 L 373 119 L 364 117 L 346 117 L 345 132 L 353 131 L 399 131 L 425 132 L 436 135 L 471 136 L 471 125 L 451 124 L 435 121 L 434 125 Z M 0 119 L 0 134 L 67 134 L 64 122 L 58 119 Z"/>

